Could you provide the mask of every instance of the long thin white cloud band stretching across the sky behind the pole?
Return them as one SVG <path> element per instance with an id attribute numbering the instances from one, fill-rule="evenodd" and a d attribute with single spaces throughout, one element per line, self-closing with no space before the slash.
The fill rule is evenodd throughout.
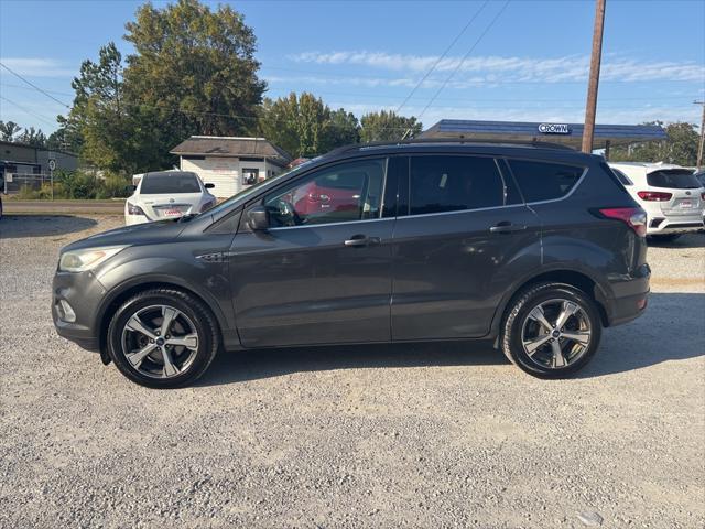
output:
<path id="1" fill-rule="evenodd" d="M 358 65 L 391 72 L 408 72 L 421 74 L 427 72 L 438 61 L 436 55 L 402 55 L 386 52 L 305 52 L 290 56 L 297 63 L 314 63 L 319 65 Z M 589 69 L 589 57 L 586 55 L 566 55 L 554 58 L 543 57 L 502 57 L 479 56 L 445 57 L 438 62 L 434 73 L 445 79 L 445 73 L 458 68 L 466 74 L 459 82 L 468 82 L 467 75 L 475 80 L 508 80 L 512 82 L 581 82 L 585 80 Z M 432 76 L 433 77 L 433 76 Z M 647 62 L 608 54 L 601 68 L 601 78 L 606 80 L 705 80 L 705 65 L 695 62 L 660 61 Z"/>

